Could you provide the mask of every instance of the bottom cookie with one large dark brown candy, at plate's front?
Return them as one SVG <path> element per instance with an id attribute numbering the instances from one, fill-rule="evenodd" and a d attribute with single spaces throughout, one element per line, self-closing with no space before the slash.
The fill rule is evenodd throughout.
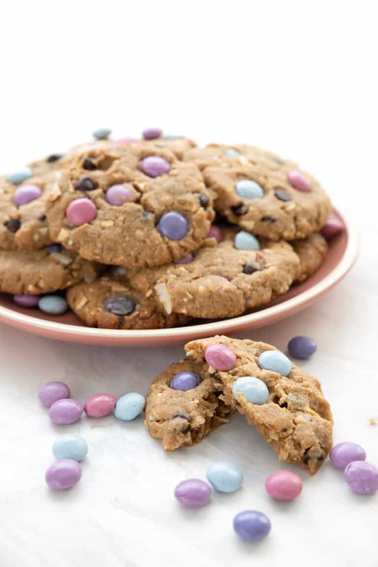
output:
<path id="1" fill-rule="evenodd" d="M 89 327 L 102 329 L 161 329 L 188 324 L 185 315 L 167 315 L 152 298 L 132 289 L 115 270 L 91 284 L 67 290 L 71 309 Z"/>

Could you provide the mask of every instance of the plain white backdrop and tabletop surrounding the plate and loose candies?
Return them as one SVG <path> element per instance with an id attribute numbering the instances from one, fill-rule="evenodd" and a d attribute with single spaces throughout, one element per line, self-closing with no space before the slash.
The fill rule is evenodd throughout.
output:
<path id="1" fill-rule="evenodd" d="M 6 5 L 6 7 L 5 7 Z M 4 2 L 1 9 L 0 171 L 90 139 L 150 125 L 199 142 L 250 142 L 298 160 L 354 211 L 359 260 L 315 306 L 244 333 L 284 349 L 308 334 L 303 366 L 332 404 L 335 442 L 361 443 L 378 465 L 377 100 L 375 2 Z M 376 567 L 377 497 L 359 497 L 325 463 L 289 504 L 266 496 L 282 468 L 236 416 L 194 448 L 164 454 L 143 428 L 112 416 L 61 429 L 36 400 L 64 380 L 84 401 L 98 391 L 146 393 L 182 348 L 111 349 L 28 336 L 0 325 L 0 565 L 355 565 Z M 57 434 L 90 445 L 71 492 L 44 483 Z M 182 510 L 172 492 L 216 459 L 244 469 L 243 488 Z M 283 468 L 289 468 L 283 466 Z M 293 469 L 293 468 L 292 468 Z M 294 470 L 294 469 L 293 469 Z M 271 533 L 247 545 L 232 531 L 244 509 Z"/>

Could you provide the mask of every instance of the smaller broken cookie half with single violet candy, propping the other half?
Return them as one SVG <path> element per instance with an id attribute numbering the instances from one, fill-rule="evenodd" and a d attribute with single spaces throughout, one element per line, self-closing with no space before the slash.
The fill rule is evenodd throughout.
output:
<path id="1" fill-rule="evenodd" d="M 169 387 L 182 372 L 198 376 L 197 387 L 181 391 Z M 155 439 L 162 439 L 167 451 L 195 445 L 220 425 L 232 412 L 218 397 L 208 365 L 184 359 L 171 364 L 155 378 L 146 396 L 145 425 Z"/>

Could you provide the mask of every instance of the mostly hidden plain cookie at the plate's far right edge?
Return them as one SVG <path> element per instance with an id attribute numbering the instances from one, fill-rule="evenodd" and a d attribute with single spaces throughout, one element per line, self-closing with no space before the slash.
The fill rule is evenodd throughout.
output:
<path id="1" fill-rule="evenodd" d="M 325 259 L 328 244 L 319 232 L 314 232 L 303 240 L 292 240 L 290 244 L 300 260 L 300 270 L 296 281 L 307 280 Z"/>

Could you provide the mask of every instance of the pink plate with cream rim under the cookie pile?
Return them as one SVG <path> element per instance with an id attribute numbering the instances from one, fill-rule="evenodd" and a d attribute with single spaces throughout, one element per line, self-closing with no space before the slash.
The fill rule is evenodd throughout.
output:
<path id="1" fill-rule="evenodd" d="M 120 331 L 86 327 L 72 312 L 56 317 L 44 315 L 38 309 L 19 307 L 12 301 L 10 295 L 0 294 L 0 320 L 11 327 L 43 337 L 113 346 L 172 344 L 193 338 L 264 327 L 311 305 L 337 284 L 351 268 L 358 249 L 357 231 L 349 215 L 339 214 L 339 216 L 343 219 L 346 230 L 329 242 L 328 255 L 317 272 L 303 283 L 291 287 L 288 293 L 276 298 L 269 305 L 247 315 L 173 329 Z"/>

